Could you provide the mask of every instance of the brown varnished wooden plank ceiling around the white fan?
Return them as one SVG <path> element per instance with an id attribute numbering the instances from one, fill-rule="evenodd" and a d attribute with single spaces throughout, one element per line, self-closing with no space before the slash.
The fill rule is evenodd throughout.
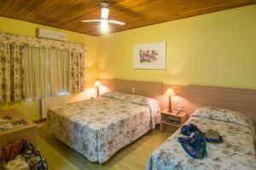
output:
<path id="1" fill-rule="evenodd" d="M 98 23 L 80 20 L 98 19 L 101 0 L 0 0 L 0 15 L 69 31 L 100 36 Z M 153 25 L 199 14 L 236 8 L 256 0 L 109 0 L 108 19 L 125 26 L 110 26 L 110 32 Z"/>

